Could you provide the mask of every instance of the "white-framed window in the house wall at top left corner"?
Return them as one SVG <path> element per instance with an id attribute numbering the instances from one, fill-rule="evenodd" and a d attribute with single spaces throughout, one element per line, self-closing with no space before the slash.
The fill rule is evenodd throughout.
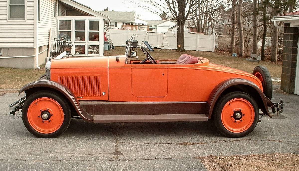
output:
<path id="1" fill-rule="evenodd" d="M 10 20 L 25 20 L 25 0 L 9 0 L 9 17 Z"/>

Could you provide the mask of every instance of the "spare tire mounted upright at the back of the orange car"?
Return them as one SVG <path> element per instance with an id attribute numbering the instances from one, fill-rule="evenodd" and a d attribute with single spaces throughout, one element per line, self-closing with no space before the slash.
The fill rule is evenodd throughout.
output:
<path id="1" fill-rule="evenodd" d="M 256 76 L 263 85 L 263 93 L 270 100 L 272 99 L 272 80 L 271 75 L 267 67 L 263 65 L 256 66 L 252 72 L 254 76 Z"/>

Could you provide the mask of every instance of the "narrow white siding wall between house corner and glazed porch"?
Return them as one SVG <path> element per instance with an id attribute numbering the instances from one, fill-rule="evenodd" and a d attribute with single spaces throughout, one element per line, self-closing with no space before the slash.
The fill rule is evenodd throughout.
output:
<path id="1" fill-rule="evenodd" d="M 55 30 L 57 20 L 54 16 L 54 2 L 56 0 L 40 0 L 40 21 L 38 22 L 38 47 L 49 44 L 49 31 L 50 28 Z M 56 3 L 57 4 L 57 3 Z M 57 7 L 56 7 L 57 9 Z"/>

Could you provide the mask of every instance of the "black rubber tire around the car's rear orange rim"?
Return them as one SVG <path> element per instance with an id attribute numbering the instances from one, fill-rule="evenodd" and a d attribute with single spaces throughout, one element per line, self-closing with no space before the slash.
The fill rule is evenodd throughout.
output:
<path id="1" fill-rule="evenodd" d="M 237 99 L 237 98 L 247 100 L 252 105 L 252 107 L 255 111 L 254 115 L 252 115 L 254 117 L 252 124 L 251 125 L 248 124 L 248 126 L 250 126 L 250 127 L 248 129 L 246 129 L 245 131 L 239 132 L 239 133 L 231 132 L 230 130 L 225 128 L 224 124 L 222 123 L 222 119 L 221 119 L 222 109 L 224 108 L 224 106 L 229 101 L 231 101 L 233 99 Z M 243 110 L 243 112 L 244 112 L 244 110 Z M 233 113 L 234 113 L 234 111 L 232 111 L 232 114 L 229 114 L 229 115 L 234 115 Z M 231 118 L 231 116 L 228 116 L 228 117 Z M 244 112 L 244 116 L 242 116 L 242 117 L 244 117 L 243 119 L 245 119 L 245 112 Z M 242 117 L 241 117 L 241 119 L 242 119 Z M 244 137 L 244 136 L 248 135 L 250 132 L 252 132 L 252 130 L 257 125 L 258 118 L 259 118 L 259 109 L 258 109 L 257 103 L 255 102 L 255 100 L 249 94 L 246 94 L 246 93 L 240 92 L 240 91 L 236 91 L 236 92 L 232 92 L 232 93 L 224 95 L 223 97 L 221 97 L 218 100 L 218 102 L 217 102 L 217 104 L 214 108 L 214 123 L 215 123 L 215 126 L 217 127 L 219 132 L 221 132 L 223 135 L 225 135 L 227 137 L 231 137 L 231 138 Z M 240 121 L 242 121 L 242 120 L 240 120 Z M 238 124 L 238 123 L 236 123 L 236 124 Z"/>

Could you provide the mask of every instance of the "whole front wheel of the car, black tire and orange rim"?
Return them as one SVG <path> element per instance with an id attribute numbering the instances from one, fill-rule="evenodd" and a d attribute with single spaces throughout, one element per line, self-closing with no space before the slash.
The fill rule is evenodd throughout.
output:
<path id="1" fill-rule="evenodd" d="M 38 91 L 25 101 L 22 119 L 28 131 L 36 137 L 55 138 L 68 128 L 71 110 L 56 92 Z"/>

